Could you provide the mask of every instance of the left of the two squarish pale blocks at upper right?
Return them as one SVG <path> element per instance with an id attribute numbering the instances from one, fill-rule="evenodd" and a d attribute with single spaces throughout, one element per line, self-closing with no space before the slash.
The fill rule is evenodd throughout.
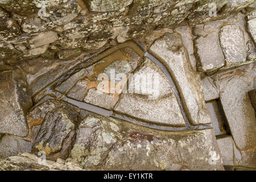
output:
<path id="1" fill-rule="evenodd" d="M 196 39 L 195 46 L 197 49 L 197 56 L 200 61 L 200 65 L 197 69 L 203 72 L 210 72 L 224 67 L 224 55 L 222 53 L 220 43 L 218 42 L 216 32 Z"/>

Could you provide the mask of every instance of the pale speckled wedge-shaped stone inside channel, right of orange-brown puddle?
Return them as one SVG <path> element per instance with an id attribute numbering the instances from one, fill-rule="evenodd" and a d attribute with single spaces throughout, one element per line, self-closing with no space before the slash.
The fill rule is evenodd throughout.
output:
<path id="1" fill-rule="evenodd" d="M 147 74 L 159 75 L 158 84 L 151 83 Z M 143 78 L 144 77 L 144 78 Z M 185 126 L 174 91 L 167 77 L 148 58 L 129 78 L 128 93 L 123 93 L 114 110 L 147 122 L 164 125 Z M 141 79 L 145 81 L 141 81 Z M 152 77 L 152 81 L 157 79 Z M 150 85 L 152 84 L 152 85 Z M 145 89 L 146 88 L 146 89 Z"/>

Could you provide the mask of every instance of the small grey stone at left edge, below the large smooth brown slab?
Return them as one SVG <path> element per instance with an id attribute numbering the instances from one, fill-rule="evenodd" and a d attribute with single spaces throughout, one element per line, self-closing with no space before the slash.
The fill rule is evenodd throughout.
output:
<path id="1" fill-rule="evenodd" d="M 31 152 L 32 143 L 26 140 L 5 136 L 0 139 L 0 159 L 15 156 L 22 152 Z"/>

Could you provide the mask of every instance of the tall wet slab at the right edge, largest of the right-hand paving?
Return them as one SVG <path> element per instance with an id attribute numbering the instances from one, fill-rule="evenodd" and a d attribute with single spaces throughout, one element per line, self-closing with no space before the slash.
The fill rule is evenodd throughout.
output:
<path id="1" fill-rule="evenodd" d="M 242 151 L 256 146 L 255 114 L 248 95 L 250 90 L 255 89 L 255 68 L 255 64 L 250 64 L 224 72 L 217 81 L 229 128 L 236 146 Z"/>

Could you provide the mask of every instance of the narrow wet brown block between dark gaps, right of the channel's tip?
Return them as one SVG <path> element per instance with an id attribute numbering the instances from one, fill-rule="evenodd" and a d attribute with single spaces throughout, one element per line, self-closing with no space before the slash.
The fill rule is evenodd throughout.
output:
<path id="1" fill-rule="evenodd" d="M 215 135 L 226 134 L 224 122 L 222 121 L 220 111 L 218 110 L 218 105 L 216 101 L 208 102 L 207 108 L 212 115 L 212 125 Z"/>

